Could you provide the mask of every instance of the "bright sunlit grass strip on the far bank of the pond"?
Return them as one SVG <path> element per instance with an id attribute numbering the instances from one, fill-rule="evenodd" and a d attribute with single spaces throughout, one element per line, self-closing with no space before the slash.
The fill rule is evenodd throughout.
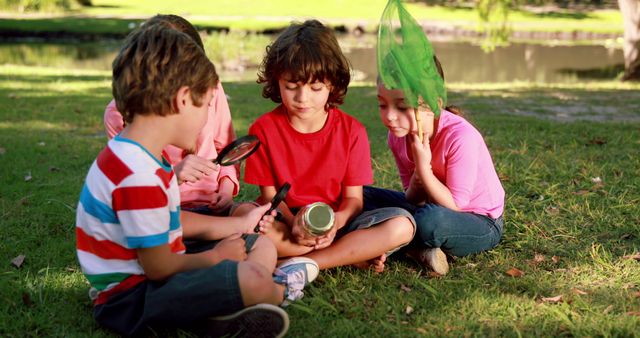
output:
<path id="1" fill-rule="evenodd" d="M 207 1 L 125 1 L 94 0 L 93 7 L 51 18 L 7 18 L 0 20 L 0 30 L 55 31 L 123 34 L 130 23 L 157 13 L 175 13 L 188 18 L 202 29 L 230 28 L 264 31 L 286 27 L 290 21 L 315 17 L 330 25 L 362 26 L 368 31 L 377 27 L 385 0 L 330 0 L 322 3 L 295 0 L 218 0 Z M 464 29 L 479 27 L 474 9 L 463 7 L 407 5 L 420 21 L 440 22 Z M 88 17 L 87 17 L 88 16 Z M 93 19 L 95 17 L 97 19 Z M 513 11 L 509 20 L 515 31 L 597 32 L 621 34 L 622 18 L 616 10 L 594 10 L 582 13 L 556 11 L 532 13 Z"/>

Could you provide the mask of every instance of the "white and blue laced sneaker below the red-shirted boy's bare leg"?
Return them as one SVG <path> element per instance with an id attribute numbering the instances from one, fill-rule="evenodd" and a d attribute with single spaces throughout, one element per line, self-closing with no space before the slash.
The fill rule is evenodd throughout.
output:
<path id="1" fill-rule="evenodd" d="M 313 282 L 319 272 L 318 263 L 306 257 L 294 257 L 278 264 L 273 281 L 285 286 L 282 306 L 301 299 L 304 296 L 302 289 Z"/>

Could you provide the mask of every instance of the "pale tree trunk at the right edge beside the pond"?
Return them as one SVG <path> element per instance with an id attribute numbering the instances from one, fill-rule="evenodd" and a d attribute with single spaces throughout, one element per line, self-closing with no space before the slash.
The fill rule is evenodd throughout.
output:
<path id="1" fill-rule="evenodd" d="M 640 1 L 618 0 L 624 22 L 623 81 L 640 81 Z"/>

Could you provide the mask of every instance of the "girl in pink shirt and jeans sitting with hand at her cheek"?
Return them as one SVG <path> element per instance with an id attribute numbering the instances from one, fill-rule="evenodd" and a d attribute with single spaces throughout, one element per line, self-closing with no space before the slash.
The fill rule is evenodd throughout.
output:
<path id="1" fill-rule="evenodd" d="M 434 61 L 444 79 L 435 56 Z M 379 81 L 378 103 L 404 193 L 365 187 L 365 210 L 400 206 L 410 211 L 417 233 L 409 254 L 441 275 L 449 270 L 445 253 L 465 256 L 496 246 L 504 190 L 478 130 L 455 107 L 442 109 L 436 118 L 424 105 L 417 111 L 424 131 L 420 141 L 416 113 L 402 90 Z"/>

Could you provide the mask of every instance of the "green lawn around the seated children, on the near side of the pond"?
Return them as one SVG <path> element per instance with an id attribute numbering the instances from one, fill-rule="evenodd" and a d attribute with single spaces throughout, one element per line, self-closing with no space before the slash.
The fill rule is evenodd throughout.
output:
<path id="1" fill-rule="evenodd" d="M 111 336 L 92 320 L 74 238 L 78 195 L 106 141 L 109 77 L 0 66 L 0 336 Z M 273 106 L 256 84 L 225 90 L 238 134 Z M 467 110 L 502 177 L 502 243 L 457 259 L 443 278 L 401 258 L 381 275 L 322 272 L 287 308 L 289 336 L 640 336 L 640 262 L 624 258 L 640 252 L 640 122 L 554 120 L 562 108 L 590 118 L 598 106 L 639 121 L 640 87 L 454 83 L 449 101 Z M 376 184 L 399 188 L 375 88 L 352 86 L 344 109 L 367 127 Z M 523 112 L 549 118 L 514 115 Z M 26 260 L 15 268 L 18 255 Z M 524 275 L 508 276 L 513 267 Z"/>

